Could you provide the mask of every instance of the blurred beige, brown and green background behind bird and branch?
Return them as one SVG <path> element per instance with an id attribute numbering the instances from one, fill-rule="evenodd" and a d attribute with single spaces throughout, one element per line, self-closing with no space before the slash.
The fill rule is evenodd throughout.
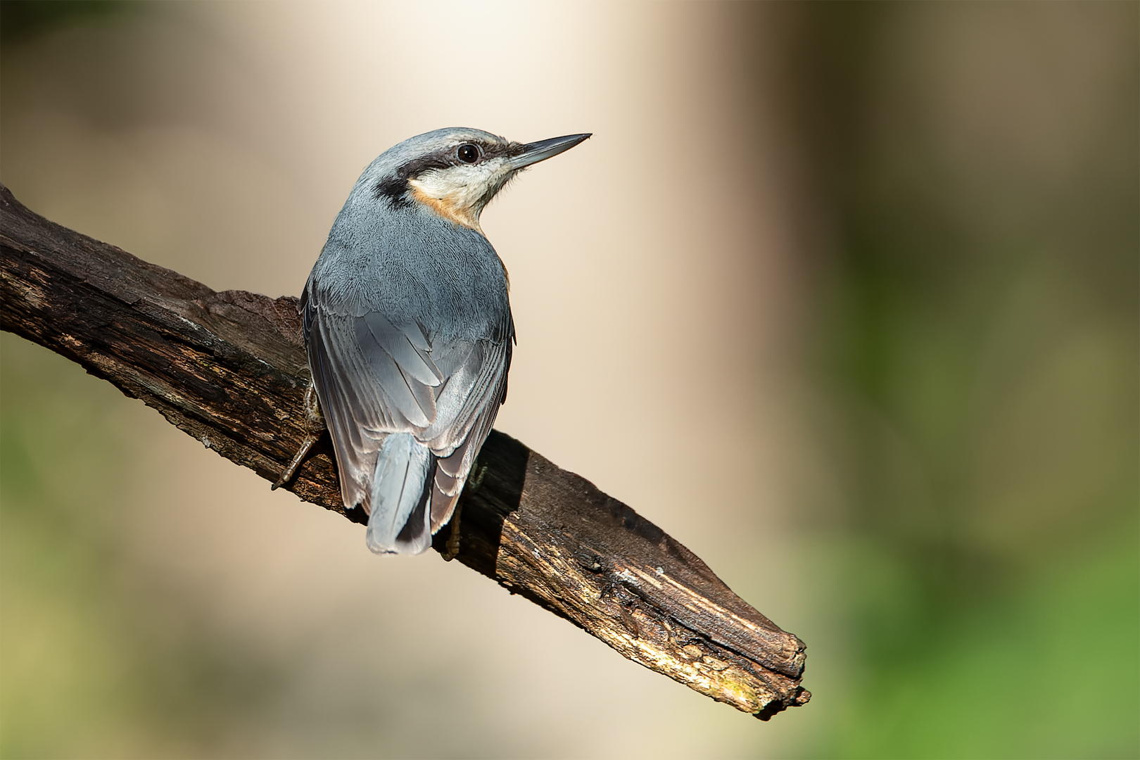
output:
<path id="1" fill-rule="evenodd" d="M 1140 755 L 1138 6 L 0 3 L 0 179 L 299 294 L 361 169 L 483 214 L 497 427 L 808 646 L 764 724 L 0 336 L 6 758 Z"/>

